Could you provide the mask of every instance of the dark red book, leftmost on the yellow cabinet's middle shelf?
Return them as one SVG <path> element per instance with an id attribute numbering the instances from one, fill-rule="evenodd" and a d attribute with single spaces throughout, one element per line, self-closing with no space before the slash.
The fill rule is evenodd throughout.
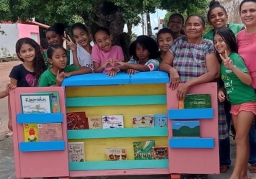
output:
<path id="1" fill-rule="evenodd" d="M 69 112 L 66 117 L 68 130 L 89 129 L 85 112 Z"/>

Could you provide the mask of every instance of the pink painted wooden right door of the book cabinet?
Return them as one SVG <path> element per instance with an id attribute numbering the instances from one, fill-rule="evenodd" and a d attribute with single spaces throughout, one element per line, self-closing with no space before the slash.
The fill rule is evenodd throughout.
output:
<path id="1" fill-rule="evenodd" d="M 181 86 L 182 84 L 180 84 Z M 200 137 L 213 137 L 213 149 L 169 148 L 169 173 L 219 174 L 219 127 L 217 84 L 204 83 L 190 88 L 188 93 L 211 93 L 213 119 L 200 120 Z M 177 89 L 167 85 L 167 109 L 178 109 Z M 172 137 L 172 120 L 168 120 L 168 137 Z"/>

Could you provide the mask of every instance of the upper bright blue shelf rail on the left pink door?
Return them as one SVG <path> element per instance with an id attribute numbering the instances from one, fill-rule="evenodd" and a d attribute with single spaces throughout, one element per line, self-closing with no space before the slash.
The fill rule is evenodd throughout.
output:
<path id="1" fill-rule="evenodd" d="M 63 122 L 62 113 L 17 114 L 18 124 L 45 124 Z"/>

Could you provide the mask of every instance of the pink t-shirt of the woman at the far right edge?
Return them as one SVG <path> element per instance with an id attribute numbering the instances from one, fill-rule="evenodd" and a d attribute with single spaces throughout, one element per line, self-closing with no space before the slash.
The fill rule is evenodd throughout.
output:
<path id="1" fill-rule="evenodd" d="M 246 29 L 237 34 L 238 54 L 244 59 L 250 75 L 252 87 L 256 88 L 256 33 L 247 35 Z"/>

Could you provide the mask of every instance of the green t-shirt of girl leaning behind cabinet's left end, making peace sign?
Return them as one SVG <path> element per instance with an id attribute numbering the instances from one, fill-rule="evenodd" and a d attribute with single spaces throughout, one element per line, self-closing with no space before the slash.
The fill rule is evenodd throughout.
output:
<path id="1" fill-rule="evenodd" d="M 76 71 L 78 69 L 79 69 L 78 66 L 66 65 L 63 72 L 69 73 L 71 71 Z M 45 70 L 45 72 L 42 75 L 40 75 L 40 78 L 39 78 L 39 81 L 38 81 L 38 86 L 39 87 L 48 87 L 48 86 L 53 86 L 55 84 L 56 84 L 56 75 L 54 75 L 50 71 L 50 68 Z"/>

